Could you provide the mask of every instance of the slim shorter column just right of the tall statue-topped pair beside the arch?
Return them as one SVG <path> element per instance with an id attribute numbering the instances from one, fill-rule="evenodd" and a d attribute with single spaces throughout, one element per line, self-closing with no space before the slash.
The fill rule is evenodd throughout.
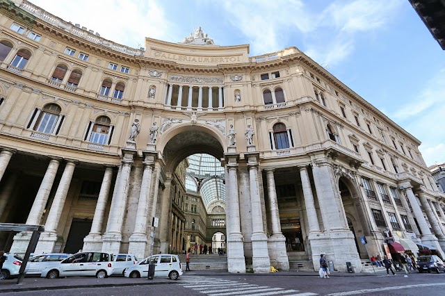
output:
<path id="1" fill-rule="evenodd" d="M 268 238 L 268 254 L 270 265 L 278 270 L 289 270 L 289 258 L 286 253 L 286 238 L 281 232 L 280 212 L 278 211 L 277 192 L 275 191 L 275 179 L 273 169 L 266 170 L 267 192 L 269 199 L 270 221 L 272 234 Z"/>

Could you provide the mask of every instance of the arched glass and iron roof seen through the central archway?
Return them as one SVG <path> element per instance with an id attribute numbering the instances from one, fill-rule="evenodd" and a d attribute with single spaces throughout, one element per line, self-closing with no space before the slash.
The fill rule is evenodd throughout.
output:
<path id="1" fill-rule="evenodd" d="M 224 167 L 221 162 L 209 154 L 188 156 L 186 189 L 199 193 L 207 211 L 215 200 L 225 202 Z"/>

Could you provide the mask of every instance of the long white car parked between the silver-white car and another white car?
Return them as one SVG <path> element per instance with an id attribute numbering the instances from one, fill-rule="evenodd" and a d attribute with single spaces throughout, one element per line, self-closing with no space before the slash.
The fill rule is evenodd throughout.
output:
<path id="1" fill-rule="evenodd" d="M 56 279 L 58 277 L 95 276 L 103 279 L 113 274 L 113 254 L 102 252 L 80 252 L 56 265 L 44 268 L 40 277 Z"/>

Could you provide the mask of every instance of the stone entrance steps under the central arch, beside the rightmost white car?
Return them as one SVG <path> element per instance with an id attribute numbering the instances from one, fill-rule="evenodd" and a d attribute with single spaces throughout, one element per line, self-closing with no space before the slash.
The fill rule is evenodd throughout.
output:
<path id="1" fill-rule="evenodd" d="M 186 270 L 186 255 L 179 255 L 181 269 Z M 190 270 L 225 270 L 227 271 L 227 254 L 190 255 Z"/>

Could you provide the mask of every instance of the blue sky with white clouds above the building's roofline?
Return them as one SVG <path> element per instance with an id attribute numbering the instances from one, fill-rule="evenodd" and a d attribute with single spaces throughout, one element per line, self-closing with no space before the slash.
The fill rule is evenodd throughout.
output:
<path id="1" fill-rule="evenodd" d="M 31 2 L 129 47 L 197 26 L 251 56 L 298 47 L 421 140 L 427 165 L 445 163 L 445 51 L 407 0 Z"/>

